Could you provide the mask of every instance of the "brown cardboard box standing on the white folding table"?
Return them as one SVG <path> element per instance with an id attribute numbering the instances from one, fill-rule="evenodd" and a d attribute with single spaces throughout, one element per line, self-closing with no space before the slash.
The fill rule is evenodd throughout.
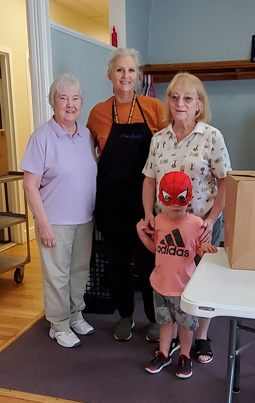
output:
<path id="1" fill-rule="evenodd" d="M 231 268 L 255 270 L 255 171 L 229 171 L 224 247 Z"/>

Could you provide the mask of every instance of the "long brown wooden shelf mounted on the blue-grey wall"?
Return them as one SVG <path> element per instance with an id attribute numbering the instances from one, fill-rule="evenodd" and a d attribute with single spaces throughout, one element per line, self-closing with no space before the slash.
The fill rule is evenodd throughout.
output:
<path id="1" fill-rule="evenodd" d="M 144 64 L 144 74 L 153 74 L 154 83 L 167 83 L 179 72 L 194 74 L 201 81 L 255 79 L 255 63 L 249 60 L 205 61 L 199 63 Z"/>

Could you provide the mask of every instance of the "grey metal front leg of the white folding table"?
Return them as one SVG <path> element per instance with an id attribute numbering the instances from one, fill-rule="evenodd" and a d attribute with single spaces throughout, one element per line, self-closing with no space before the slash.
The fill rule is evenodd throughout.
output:
<path id="1" fill-rule="evenodd" d="M 233 390 L 233 383 L 234 383 L 234 367 L 235 367 L 236 335 L 237 335 L 237 320 L 230 319 L 225 403 L 232 402 L 232 390 Z"/>

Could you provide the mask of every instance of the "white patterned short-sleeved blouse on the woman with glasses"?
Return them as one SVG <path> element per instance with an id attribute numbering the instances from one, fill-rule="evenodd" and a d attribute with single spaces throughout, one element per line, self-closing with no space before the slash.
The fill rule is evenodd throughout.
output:
<path id="1" fill-rule="evenodd" d="M 173 125 L 158 131 L 151 140 L 149 156 L 143 169 L 145 176 L 156 178 L 156 213 L 161 213 L 158 186 L 162 176 L 182 171 L 191 178 L 193 199 L 188 212 L 205 218 L 218 193 L 217 178 L 231 170 L 222 133 L 205 122 L 198 122 L 190 135 L 179 143 Z"/>

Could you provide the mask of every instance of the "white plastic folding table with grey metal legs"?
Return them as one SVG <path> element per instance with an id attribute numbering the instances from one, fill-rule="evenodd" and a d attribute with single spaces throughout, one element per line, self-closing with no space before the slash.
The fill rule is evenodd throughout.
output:
<path id="1" fill-rule="evenodd" d="M 255 265 L 254 265 L 255 269 Z M 242 318 L 255 319 L 255 270 L 236 270 L 229 266 L 224 248 L 216 254 L 205 253 L 181 298 L 181 308 L 191 315 L 212 318 L 229 316 L 229 344 L 225 403 L 232 391 L 239 392 L 240 353 L 255 340 L 240 348 Z"/>

